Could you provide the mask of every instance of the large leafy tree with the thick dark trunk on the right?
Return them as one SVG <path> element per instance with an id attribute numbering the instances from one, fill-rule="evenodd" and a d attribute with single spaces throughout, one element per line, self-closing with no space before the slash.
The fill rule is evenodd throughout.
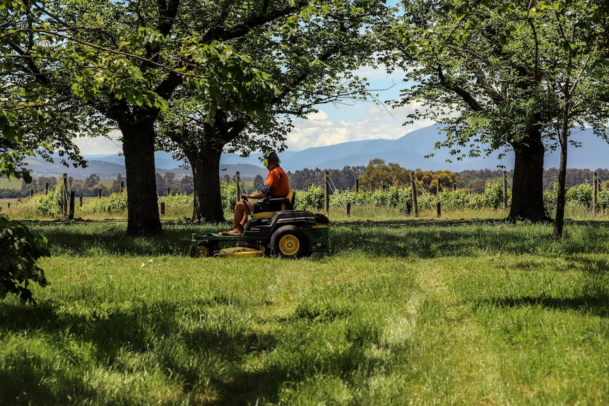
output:
<path id="1" fill-rule="evenodd" d="M 543 205 L 543 142 L 553 97 L 538 55 L 543 38 L 520 4 L 452 0 L 402 3 L 403 16 L 386 37 L 384 61 L 408 69 L 418 84 L 397 105 L 422 102 L 411 118 L 445 124 L 458 158 L 514 150 L 508 218 L 548 220 Z"/>

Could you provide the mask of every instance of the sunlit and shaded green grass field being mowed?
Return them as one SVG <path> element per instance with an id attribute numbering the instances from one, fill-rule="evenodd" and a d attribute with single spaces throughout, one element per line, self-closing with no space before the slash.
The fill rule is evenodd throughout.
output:
<path id="1" fill-rule="evenodd" d="M 194 227 L 30 221 L 0 301 L 1 405 L 602 405 L 609 222 L 331 215 L 333 253 L 189 258 Z"/>

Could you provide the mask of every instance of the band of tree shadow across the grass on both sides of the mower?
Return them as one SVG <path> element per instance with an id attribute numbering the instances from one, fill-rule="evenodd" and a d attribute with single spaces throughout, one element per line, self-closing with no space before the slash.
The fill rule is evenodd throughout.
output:
<path id="1" fill-rule="evenodd" d="M 225 225 L 166 223 L 156 237 L 125 237 L 125 222 L 32 222 L 49 239 L 53 255 L 187 256 L 191 234 Z M 577 229 L 577 234 L 569 234 Z M 609 222 L 567 221 L 565 237 L 552 238 L 552 225 L 510 224 L 504 220 L 379 220 L 331 222 L 334 254 L 436 258 L 480 253 L 564 255 L 608 250 Z"/>

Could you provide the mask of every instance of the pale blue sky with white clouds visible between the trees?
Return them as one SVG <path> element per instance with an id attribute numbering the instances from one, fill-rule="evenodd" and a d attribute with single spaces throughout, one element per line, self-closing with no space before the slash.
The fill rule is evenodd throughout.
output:
<path id="1" fill-rule="evenodd" d="M 388 75 L 384 69 L 362 68 L 356 72 L 370 83 L 369 89 L 378 100 L 396 100 L 399 90 L 404 87 L 403 73 Z M 286 145 L 289 151 L 300 151 L 312 147 L 335 145 L 348 141 L 372 140 L 377 138 L 396 139 L 404 134 L 434 124 L 433 121 L 419 121 L 403 126 L 407 116 L 415 106 L 392 109 L 389 105 L 374 102 L 350 102 L 343 105 L 320 105 L 319 112 L 306 120 L 296 119 L 295 128 L 288 134 Z M 120 133 L 114 132 L 108 138 L 78 138 L 76 144 L 83 155 L 114 155 L 122 152 Z"/>

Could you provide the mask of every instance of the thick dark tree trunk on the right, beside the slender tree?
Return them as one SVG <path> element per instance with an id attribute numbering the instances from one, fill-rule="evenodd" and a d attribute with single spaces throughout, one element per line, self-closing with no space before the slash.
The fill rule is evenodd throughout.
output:
<path id="1" fill-rule="evenodd" d="M 541 131 L 531 129 L 528 136 L 514 143 L 514 182 L 512 207 L 508 220 L 549 221 L 543 205 L 543 155 Z"/>

